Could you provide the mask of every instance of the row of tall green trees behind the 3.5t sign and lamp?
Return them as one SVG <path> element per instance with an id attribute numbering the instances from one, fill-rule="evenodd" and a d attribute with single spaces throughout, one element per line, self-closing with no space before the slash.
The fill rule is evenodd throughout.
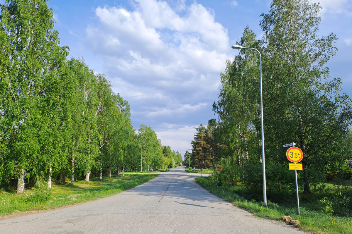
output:
<path id="1" fill-rule="evenodd" d="M 246 27 L 237 41 L 262 53 L 268 193 L 293 187 L 284 144 L 296 142 L 303 151 L 299 176 L 304 193 L 312 192 L 312 183 L 341 173 L 346 159 L 352 158 L 352 102 L 341 94 L 341 80 L 329 76 L 326 63 L 335 55 L 337 38 L 333 33 L 318 37 L 320 8 L 308 0 L 273 0 L 270 12 L 262 14 L 263 37 L 258 40 Z M 203 165 L 227 160 L 236 165 L 233 178 L 240 175 L 248 189 L 260 191 L 259 56 L 242 49 L 226 65 L 213 105 L 219 121 L 200 125 L 192 156 L 199 165 L 203 133 Z"/>

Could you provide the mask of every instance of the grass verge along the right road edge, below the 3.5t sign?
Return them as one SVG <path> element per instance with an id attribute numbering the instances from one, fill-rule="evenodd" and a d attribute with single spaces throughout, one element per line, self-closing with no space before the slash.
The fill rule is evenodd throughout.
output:
<path id="1" fill-rule="evenodd" d="M 310 211 L 304 207 L 300 207 L 300 215 L 297 214 L 297 208 L 288 208 L 286 206 L 277 205 L 274 202 L 268 202 L 267 206 L 263 206 L 263 202 L 256 200 L 246 200 L 240 195 L 233 193 L 231 190 L 226 189 L 226 186 L 216 186 L 207 178 L 195 178 L 203 188 L 207 189 L 210 193 L 230 201 L 237 207 L 244 208 L 252 212 L 254 215 L 281 221 L 282 216 L 288 215 L 293 217 L 294 220 L 299 220 L 300 225 L 298 228 L 321 234 L 351 234 L 352 233 L 352 219 L 341 218 L 337 216 L 327 215 L 323 212 Z"/>

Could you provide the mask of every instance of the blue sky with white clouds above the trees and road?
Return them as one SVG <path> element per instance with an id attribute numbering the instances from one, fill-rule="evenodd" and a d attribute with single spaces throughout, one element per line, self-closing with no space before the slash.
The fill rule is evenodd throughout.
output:
<path id="1" fill-rule="evenodd" d="M 314 0 L 315 2 L 318 2 Z M 0 0 L 0 2 L 4 2 Z M 352 0 L 321 0 L 320 36 L 339 40 L 328 62 L 352 96 Z M 231 48 L 248 25 L 260 38 L 268 0 L 50 0 L 61 46 L 103 73 L 131 106 L 134 128 L 155 130 L 184 155 L 195 129 L 217 118 L 212 105 Z M 259 91 L 258 91 L 259 92 Z M 265 93 L 263 94 L 265 95 Z M 264 123 L 265 124 L 265 123 Z"/>

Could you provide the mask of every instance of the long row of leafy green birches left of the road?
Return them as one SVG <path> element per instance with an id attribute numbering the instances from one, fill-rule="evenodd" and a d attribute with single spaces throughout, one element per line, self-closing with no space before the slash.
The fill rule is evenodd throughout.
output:
<path id="1" fill-rule="evenodd" d="M 128 102 L 104 75 L 66 59 L 52 15 L 45 0 L 1 5 L 0 186 L 17 182 L 23 193 L 25 179 L 46 178 L 51 187 L 70 177 L 73 185 L 91 173 L 101 179 L 120 168 L 180 163 L 150 126 L 135 133 Z"/>

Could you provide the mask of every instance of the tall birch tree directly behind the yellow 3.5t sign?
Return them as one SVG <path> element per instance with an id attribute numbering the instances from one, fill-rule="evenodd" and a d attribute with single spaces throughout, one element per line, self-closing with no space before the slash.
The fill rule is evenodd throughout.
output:
<path id="1" fill-rule="evenodd" d="M 331 163 L 343 161 L 339 145 L 352 116 L 349 96 L 340 94 L 340 79 L 329 79 L 326 63 L 335 55 L 337 38 L 333 33 L 318 37 L 320 9 L 308 0 L 273 0 L 260 22 L 268 56 L 266 139 L 271 146 L 298 142 L 304 193 L 310 193 L 310 181 L 321 178 Z"/>

